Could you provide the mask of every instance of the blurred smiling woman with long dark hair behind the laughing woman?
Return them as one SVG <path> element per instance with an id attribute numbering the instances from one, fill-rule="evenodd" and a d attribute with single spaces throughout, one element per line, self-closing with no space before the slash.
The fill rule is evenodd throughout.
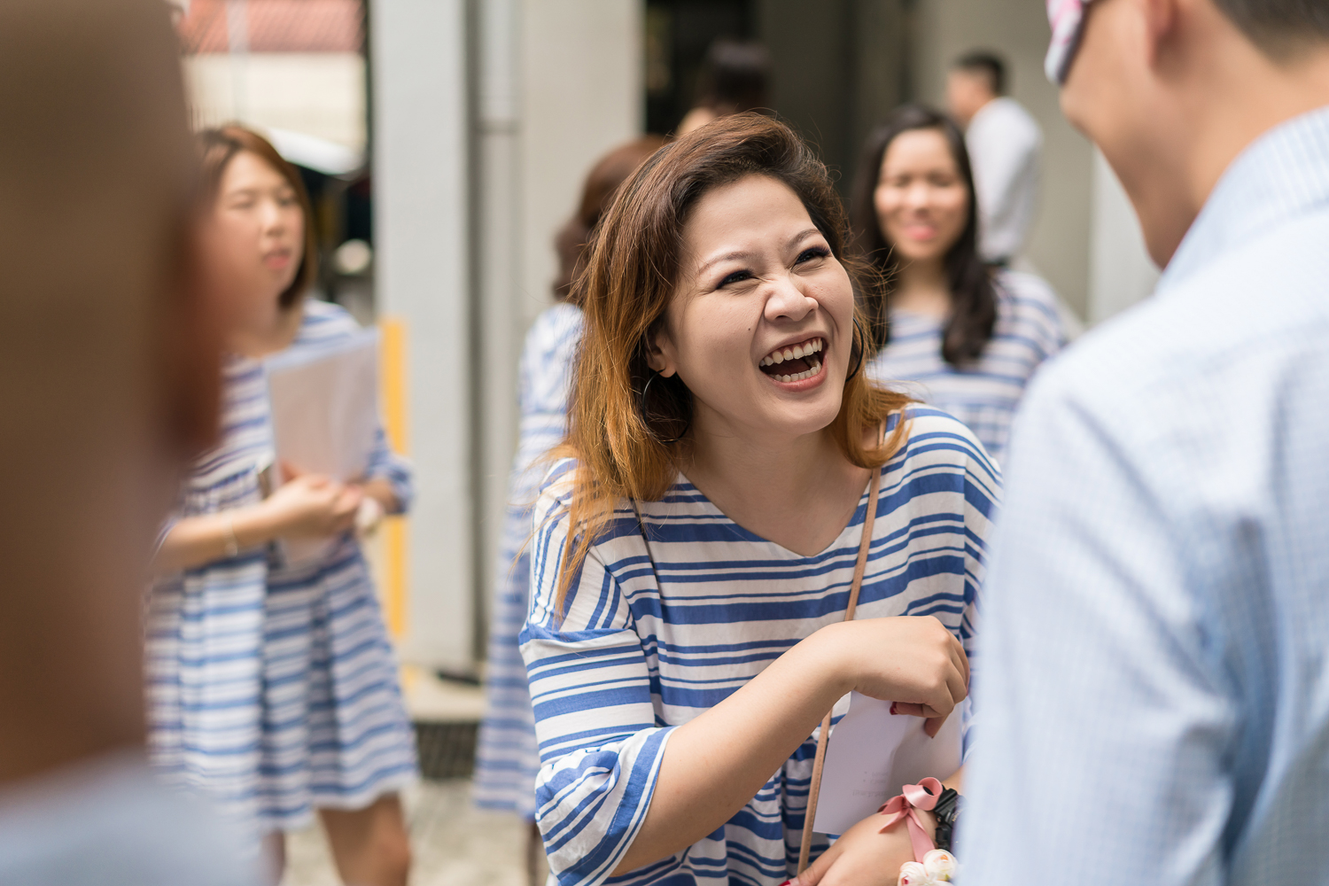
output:
<path id="1" fill-rule="evenodd" d="M 864 306 L 880 348 L 868 373 L 918 383 L 910 393 L 969 425 L 1001 461 L 1025 385 L 1069 336 L 1046 282 L 979 258 L 956 124 L 920 105 L 896 110 L 868 138 L 849 215 L 857 248 L 882 274 Z"/>

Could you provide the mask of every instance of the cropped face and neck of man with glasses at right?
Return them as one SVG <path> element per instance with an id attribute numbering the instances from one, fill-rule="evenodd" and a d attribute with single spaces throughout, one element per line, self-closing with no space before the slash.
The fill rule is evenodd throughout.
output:
<path id="1" fill-rule="evenodd" d="M 1047 73 L 1166 266 L 1228 162 L 1322 105 L 1324 0 L 1051 0 Z"/>

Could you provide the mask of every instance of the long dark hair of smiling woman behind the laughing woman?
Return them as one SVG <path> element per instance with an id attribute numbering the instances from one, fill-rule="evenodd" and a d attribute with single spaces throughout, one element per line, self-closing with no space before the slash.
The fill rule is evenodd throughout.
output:
<path id="1" fill-rule="evenodd" d="M 978 207 L 965 137 L 950 117 L 922 105 L 904 105 L 896 109 L 886 122 L 868 137 L 859 174 L 849 193 L 849 223 L 853 226 L 855 246 L 881 271 L 881 283 L 874 290 L 864 292 L 863 307 L 872 325 L 869 335 L 880 351 L 890 341 L 890 295 L 900 263 L 893 244 L 886 242 L 877 222 L 873 194 L 881 178 L 881 159 L 886 154 L 886 147 L 897 135 L 914 129 L 936 129 L 946 138 L 960 178 L 969 189 L 965 230 L 946 252 L 950 319 L 941 336 L 941 356 L 946 363 L 960 365 L 977 359 L 987 347 L 997 323 L 997 292 L 991 270 L 978 256 Z"/>

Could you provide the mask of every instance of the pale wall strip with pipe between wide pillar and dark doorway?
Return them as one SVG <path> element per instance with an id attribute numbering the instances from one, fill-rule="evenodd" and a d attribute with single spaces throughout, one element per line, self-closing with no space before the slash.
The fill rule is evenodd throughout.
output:
<path id="1" fill-rule="evenodd" d="M 501 515 L 517 442 L 517 361 L 552 304 L 554 234 L 591 165 L 641 134 L 643 4 L 484 0 L 478 16 L 478 575 L 496 580 Z"/>

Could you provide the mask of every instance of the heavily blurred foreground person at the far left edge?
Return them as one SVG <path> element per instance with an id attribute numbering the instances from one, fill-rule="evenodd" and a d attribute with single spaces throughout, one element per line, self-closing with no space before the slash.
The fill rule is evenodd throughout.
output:
<path id="1" fill-rule="evenodd" d="M 146 777 L 43 785 L 120 751 L 137 760 L 148 562 L 215 430 L 223 319 L 203 282 L 229 266 L 202 244 L 161 0 L 7 0 L 0 81 L 0 881 L 92 882 L 97 867 L 129 882 L 187 853 L 177 826 L 136 824 L 154 802 Z M 62 814 L 61 790 L 104 793 Z M 150 828 L 159 853 L 141 851 Z M 92 832 L 93 851 L 121 849 L 88 857 Z M 80 850 L 82 866 L 47 863 Z"/>

